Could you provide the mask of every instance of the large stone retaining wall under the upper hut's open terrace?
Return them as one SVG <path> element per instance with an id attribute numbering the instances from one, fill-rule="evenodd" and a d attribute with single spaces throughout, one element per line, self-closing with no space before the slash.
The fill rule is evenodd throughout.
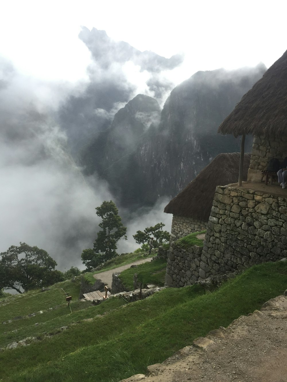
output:
<path id="1" fill-rule="evenodd" d="M 201 264 L 208 267 L 201 270 L 201 278 L 283 257 L 287 257 L 287 198 L 217 186 L 201 255 Z"/>

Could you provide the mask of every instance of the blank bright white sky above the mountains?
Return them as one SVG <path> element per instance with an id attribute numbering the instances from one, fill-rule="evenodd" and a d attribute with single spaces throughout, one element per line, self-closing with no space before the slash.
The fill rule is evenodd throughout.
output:
<path id="1" fill-rule="evenodd" d="M 80 26 L 104 29 L 139 50 L 185 60 L 177 84 L 197 70 L 272 65 L 287 49 L 285 1 L 3 1 L 0 55 L 47 81 L 85 78 L 90 53 Z"/>

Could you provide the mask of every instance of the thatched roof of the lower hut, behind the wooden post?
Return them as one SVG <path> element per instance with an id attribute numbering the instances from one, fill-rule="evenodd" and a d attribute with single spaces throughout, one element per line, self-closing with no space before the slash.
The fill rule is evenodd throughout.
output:
<path id="1" fill-rule="evenodd" d="M 247 179 L 251 154 L 244 154 L 243 180 Z M 186 188 L 165 207 L 165 212 L 208 221 L 216 186 L 238 181 L 240 153 L 217 155 Z"/>

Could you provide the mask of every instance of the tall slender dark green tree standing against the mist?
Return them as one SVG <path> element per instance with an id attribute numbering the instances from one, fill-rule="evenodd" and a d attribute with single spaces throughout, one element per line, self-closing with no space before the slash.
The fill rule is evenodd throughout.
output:
<path id="1" fill-rule="evenodd" d="M 101 206 L 96 207 L 96 214 L 102 218 L 102 222 L 99 223 L 101 231 L 97 233 L 94 249 L 84 249 L 81 255 L 83 264 L 88 269 L 116 257 L 117 242 L 121 238 L 127 240 L 127 227 L 122 224 L 118 213 L 119 210 L 112 200 L 104 201 Z"/>

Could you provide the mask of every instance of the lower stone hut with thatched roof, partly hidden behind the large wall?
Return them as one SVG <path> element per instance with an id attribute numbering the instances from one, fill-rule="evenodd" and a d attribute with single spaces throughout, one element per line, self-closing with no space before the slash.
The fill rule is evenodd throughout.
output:
<path id="1" fill-rule="evenodd" d="M 244 155 L 243 178 L 247 179 L 251 154 Z M 173 214 L 171 241 L 207 228 L 215 188 L 238 180 L 240 153 L 217 155 L 186 188 L 165 207 Z"/>

